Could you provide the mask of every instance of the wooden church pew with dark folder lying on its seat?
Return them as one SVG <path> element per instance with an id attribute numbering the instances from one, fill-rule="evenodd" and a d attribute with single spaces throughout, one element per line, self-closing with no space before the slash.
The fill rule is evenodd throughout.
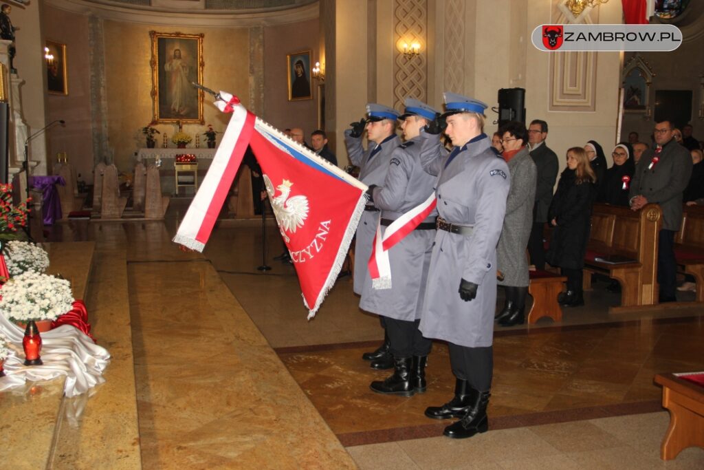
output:
<path id="1" fill-rule="evenodd" d="M 661 227 L 662 210 L 658 204 L 648 204 L 640 211 L 594 204 L 584 257 L 584 289 L 591 289 L 591 273 L 602 273 L 620 282 L 620 307 L 658 304 L 658 233 Z M 596 260 L 615 256 L 632 261 Z M 611 307 L 609 311 L 620 307 Z"/>

